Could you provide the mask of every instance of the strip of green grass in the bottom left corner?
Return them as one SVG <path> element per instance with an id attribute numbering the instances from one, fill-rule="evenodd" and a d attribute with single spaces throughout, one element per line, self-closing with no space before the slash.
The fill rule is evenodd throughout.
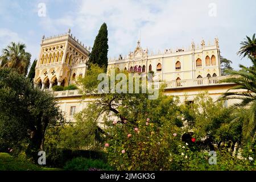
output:
<path id="1" fill-rule="evenodd" d="M 0 171 L 59 171 L 59 168 L 40 167 L 36 164 L 13 158 L 10 154 L 0 153 Z"/>

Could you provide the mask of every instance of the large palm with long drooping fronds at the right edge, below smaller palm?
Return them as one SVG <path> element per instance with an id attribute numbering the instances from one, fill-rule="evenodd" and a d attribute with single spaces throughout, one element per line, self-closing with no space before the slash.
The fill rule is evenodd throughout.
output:
<path id="1" fill-rule="evenodd" d="M 256 131 L 256 58 L 248 56 L 253 66 L 247 68 L 240 65 L 240 71 L 227 70 L 231 77 L 221 80 L 221 82 L 233 82 L 236 86 L 230 88 L 228 91 L 234 89 L 243 89 L 243 92 L 226 92 L 221 99 L 238 99 L 240 103 L 234 104 L 234 108 L 242 108 L 243 114 L 234 119 L 243 119 L 243 136 L 245 139 L 255 139 Z M 246 113 L 246 114 L 245 114 Z M 238 114 L 239 115 L 239 114 Z M 243 117 L 241 117 L 243 115 Z"/>

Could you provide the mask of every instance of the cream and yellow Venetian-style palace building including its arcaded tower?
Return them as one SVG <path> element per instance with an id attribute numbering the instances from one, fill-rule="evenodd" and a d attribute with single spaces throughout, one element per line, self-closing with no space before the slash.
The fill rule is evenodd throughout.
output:
<path id="1" fill-rule="evenodd" d="M 63 35 L 42 38 L 38 63 L 35 68 L 34 85 L 51 90 L 54 85 L 68 86 L 76 78 L 86 73 L 86 61 L 90 47 L 87 48 L 71 34 L 69 30 Z M 200 45 L 191 43 L 188 48 L 164 49 L 157 53 L 150 52 L 137 42 L 133 52 L 127 56 L 119 55 L 109 59 L 108 69 L 117 68 L 132 72 L 153 73 L 155 88 L 164 84 L 164 93 L 179 96 L 181 102 L 193 102 L 200 92 L 207 91 L 213 100 L 234 86 L 230 83 L 218 83 L 221 76 L 220 48 L 218 39 Z M 237 90 L 237 92 L 241 90 Z M 67 119 L 84 109 L 92 98 L 82 98 L 79 90 L 53 92 Z M 228 106 L 232 100 L 225 102 Z"/>

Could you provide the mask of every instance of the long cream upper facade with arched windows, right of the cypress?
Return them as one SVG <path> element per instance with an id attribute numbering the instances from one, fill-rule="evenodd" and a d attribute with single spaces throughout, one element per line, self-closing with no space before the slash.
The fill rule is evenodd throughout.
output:
<path id="1" fill-rule="evenodd" d="M 137 47 L 129 55 L 109 59 L 109 68 L 126 69 L 137 72 L 154 72 L 159 81 L 196 80 L 204 77 L 221 76 L 220 49 L 218 39 L 213 44 L 195 46 L 192 42 L 187 49 L 173 51 L 165 49 L 158 53 L 143 49 L 138 41 Z"/>

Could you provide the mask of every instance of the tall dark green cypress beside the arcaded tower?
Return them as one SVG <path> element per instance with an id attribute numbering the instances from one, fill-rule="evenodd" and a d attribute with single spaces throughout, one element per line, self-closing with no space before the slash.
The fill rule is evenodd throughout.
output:
<path id="1" fill-rule="evenodd" d="M 106 23 L 103 23 L 94 40 L 92 52 L 89 55 L 88 69 L 90 69 L 91 64 L 98 64 L 106 71 L 108 67 L 108 49 L 108 29 Z"/>

